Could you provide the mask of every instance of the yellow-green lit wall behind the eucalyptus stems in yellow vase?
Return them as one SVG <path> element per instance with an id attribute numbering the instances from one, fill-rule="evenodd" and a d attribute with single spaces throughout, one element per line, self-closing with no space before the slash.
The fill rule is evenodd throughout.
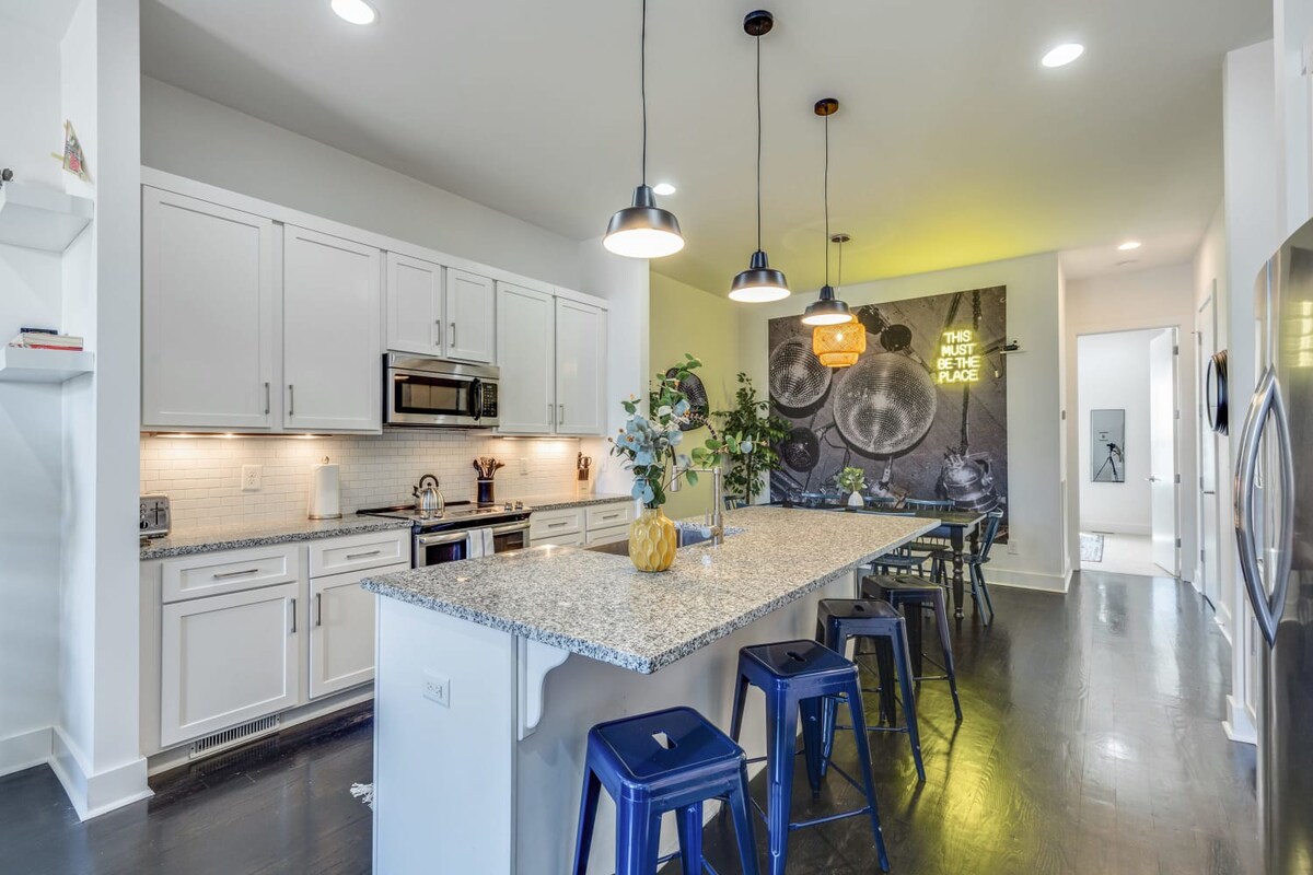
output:
<path id="1" fill-rule="evenodd" d="M 729 407 L 738 386 L 735 374 L 741 370 L 738 316 L 729 298 L 653 273 L 649 333 L 654 374 L 683 361 L 684 353 L 692 353 L 702 361 L 699 375 L 706 386 L 712 409 Z M 706 438 L 706 429 L 684 437 L 697 442 Z M 712 505 L 710 495 L 710 478 L 696 487 L 685 485 L 670 496 L 666 514 L 675 519 L 701 517 Z"/>

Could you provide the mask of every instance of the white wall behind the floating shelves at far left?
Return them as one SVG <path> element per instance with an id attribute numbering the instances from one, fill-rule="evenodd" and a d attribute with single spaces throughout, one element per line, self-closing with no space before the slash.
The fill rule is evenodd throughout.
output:
<path id="1" fill-rule="evenodd" d="M 60 185 L 59 43 L 0 12 L 0 165 Z M 60 327 L 59 256 L 0 245 L 0 344 Z M 0 774 L 43 762 L 58 714 L 60 391 L 0 383 Z"/>

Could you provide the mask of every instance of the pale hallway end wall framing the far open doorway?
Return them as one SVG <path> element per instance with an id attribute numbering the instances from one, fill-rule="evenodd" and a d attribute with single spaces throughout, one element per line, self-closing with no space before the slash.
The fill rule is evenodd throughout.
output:
<path id="1" fill-rule="evenodd" d="M 1188 488 L 1199 478 L 1197 438 L 1195 420 L 1190 411 L 1195 404 L 1196 350 L 1192 341 L 1195 331 L 1195 270 L 1194 265 L 1182 264 L 1149 270 L 1132 270 L 1067 282 L 1066 291 L 1066 333 L 1070 338 L 1067 358 L 1067 403 L 1071 409 L 1082 405 L 1081 390 L 1077 386 L 1075 338 L 1082 335 L 1099 335 L 1117 331 L 1138 331 L 1142 328 L 1176 328 L 1180 344 L 1180 359 L 1176 369 L 1176 403 L 1180 421 L 1176 433 L 1176 466 L 1180 474 L 1179 527 L 1182 540 L 1182 577 L 1190 580 L 1195 563 L 1188 560 L 1199 547 L 1196 519 L 1197 493 Z M 1190 342 L 1187 342 L 1190 341 Z M 1078 468 L 1079 429 L 1067 434 L 1069 471 L 1067 483 L 1083 496 L 1088 475 Z"/>

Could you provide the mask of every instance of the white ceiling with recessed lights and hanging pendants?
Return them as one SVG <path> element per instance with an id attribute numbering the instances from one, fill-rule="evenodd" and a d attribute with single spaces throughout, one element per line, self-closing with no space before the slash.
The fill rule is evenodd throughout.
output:
<path id="1" fill-rule="evenodd" d="M 658 264 L 727 289 L 754 248 L 756 0 L 649 5 L 650 181 L 688 241 Z M 638 181 L 638 3 L 143 0 L 143 72 L 574 239 Z M 1190 257 L 1221 199 L 1222 55 L 1266 0 L 777 0 L 763 39 L 765 248 L 822 278 L 819 97 L 844 281 L 1045 251 L 1071 275 Z M 1075 39 L 1085 58 L 1044 70 Z"/>

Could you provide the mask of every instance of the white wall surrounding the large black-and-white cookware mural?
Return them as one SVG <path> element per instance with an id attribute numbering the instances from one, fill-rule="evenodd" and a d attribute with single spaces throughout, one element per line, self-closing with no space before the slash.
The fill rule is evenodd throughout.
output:
<path id="1" fill-rule="evenodd" d="M 1007 335 L 1023 353 L 1007 361 L 1010 543 L 995 551 L 990 582 L 1062 592 L 1067 585 L 1064 542 L 1061 382 L 1061 273 L 1056 253 L 844 286 L 850 304 L 1007 286 Z M 813 293 L 814 294 L 814 293 Z M 767 323 L 798 315 L 804 294 L 739 310 L 742 370 L 768 384 Z"/>

